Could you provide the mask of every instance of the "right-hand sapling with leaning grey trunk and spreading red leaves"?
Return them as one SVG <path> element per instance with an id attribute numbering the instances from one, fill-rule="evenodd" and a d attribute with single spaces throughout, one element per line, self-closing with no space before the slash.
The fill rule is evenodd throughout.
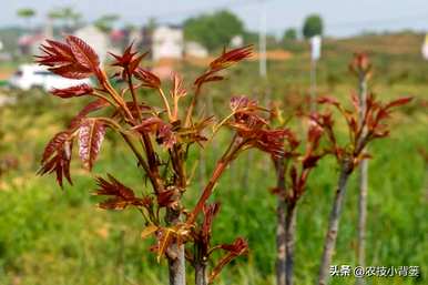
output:
<path id="1" fill-rule="evenodd" d="M 319 285 L 327 284 L 348 179 L 361 160 L 369 157 L 368 154 L 364 152 L 366 146 L 374 140 L 385 138 L 389 134 L 389 126 L 385 121 L 389 118 L 394 109 L 408 103 L 410 100 L 411 98 L 401 98 L 389 103 L 383 103 L 376 100 L 373 94 L 367 94 L 365 102 L 366 108 L 364 112 L 361 112 L 360 106 L 363 104 L 358 95 L 355 94 L 351 95 L 350 100 L 353 105 L 351 109 L 344 108 L 332 96 L 318 99 L 319 104 L 327 104 L 337 109 L 344 118 L 348 131 L 348 142 L 347 144 L 342 145 L 337 140 L 332 112 L 326 111 L 325 113 L 312 115 L 314 122 L 323 128 L 326 133 L 329 142 L 329 153 L 336 156 L 337 163 L 339 164 L 339 179 L 320 259 L 318 275 Z M 360 116 L 363 118 L 361 120 L 359 120 Z"/>

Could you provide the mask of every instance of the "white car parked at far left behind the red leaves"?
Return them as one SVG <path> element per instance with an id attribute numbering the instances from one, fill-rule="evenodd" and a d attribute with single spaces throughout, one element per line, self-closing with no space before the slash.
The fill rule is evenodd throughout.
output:
<path id="1" fill-rule="evenodd" d="M 30 90 L 41 88 L 44 91 L 52 89 L 64 89 L 82 83 L 91 84 L 90 79 L 67 79 L 50 72 L 47 68 L 37 64 L 22 64 L 10 78 L 9 84 L 12 88 Z"/>

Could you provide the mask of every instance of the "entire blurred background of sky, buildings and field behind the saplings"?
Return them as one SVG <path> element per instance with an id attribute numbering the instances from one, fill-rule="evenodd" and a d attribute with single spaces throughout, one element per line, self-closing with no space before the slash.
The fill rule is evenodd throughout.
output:
<path id="1" fill-rule="evenodd" d="M 187 82 L 224 48 L 253 44 L 251 61 L 215 84 L 201 108 L 218 115 L 228 98 L 247 94 L 285 112 L 310 94 L 345 101 L 357 90 L 348 71 L 355 52 L 367 52 L 369 83 L 381 100 L 412 95 L 391 119 L 393 133 L 376 142 L 369 162 L 367 264 L 420 266 L 419 277 L 370 278 L 369 284 L 428 284 L 428 2 L 360 0 L 14 0 L 0 9 L 0 284 L 136 285 L 165 283 L 142 242 L 137 213 L 96 208 L 92 176 L 112 173 L 140 185 L 141 173 L 124 145 L 106 139 L 94 173 L 73 163 L 74 186 L 61 191 L 53 177 L 35 175 L 44 144 L 84 100 L 52 98 L 52 88 L 77 84 L 33 64 L 45 39 L 74 34 L 90 43 L 105 67 L 108 51 L 133 42 L 149 51 L 144 64 L 163 79 L 172 71 Z M 121 82 L 115 84 L 120 85 Z M 190 83 L 188 83 L 190 85 Z M 149 92 L 142 93 L 150 96 Z M 206 181 L 221 142 L 197 170 Z M 196 157 L 195 157 L 196 160 Z M 114 163 L 112 163 L 114 161 Z M 251 165 L 251 167 L 248 167 Z M 224 271 L 220 284 L 274 284 L 275 186 L 271 162 L 259 153 L 240 159 L 216 197 L 216 241 L 248 240 L 251 253 Z M 323 162 L 298 213 L 296 284 L 313 284 L 337 180 Z M 188 190 L 188 205 L 197 183 Z M 193 193 L 193 194 L 192 194 Z M 356 264 L 357 186 L 349 185 L 334 264 Z M 165 265 L 165 264 L 163 264 Z M 351 277 L 332 284 L 354 284 Z"/>

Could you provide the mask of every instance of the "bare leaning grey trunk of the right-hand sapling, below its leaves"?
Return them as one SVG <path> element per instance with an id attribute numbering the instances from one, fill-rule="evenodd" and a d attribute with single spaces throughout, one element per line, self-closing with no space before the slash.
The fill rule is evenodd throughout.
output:
<path id="1" fill-rule="evenodd" d="M 340 169 L 340 176 L 339 176 L 337 191 L 335 194 L 335 200 L 333 203 L 333 208 L 332 208 L 329 222 L 328 222 L 328 231 L 324 242 L 324 251 L 323 251 L 323 257 L 320 261 L 319 276 L 318 276 L 319 285 L 327 284 L 327 279 L 329 275 L 329 266 L 332 263 L 332 256 L 336 246 L 337 231 L 339 230 L 339 218 L 340 218 L 342 205 L 343 205 L 343 201 L 346 192 L 346 184 L 351 173 L 350 163 L 351 162 L 345 161 Z"/>

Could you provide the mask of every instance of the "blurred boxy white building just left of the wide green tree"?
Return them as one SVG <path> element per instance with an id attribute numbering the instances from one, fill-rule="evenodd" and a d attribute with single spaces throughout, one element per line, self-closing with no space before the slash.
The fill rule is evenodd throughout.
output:
<path id="1" fill-rule="evenodd" d="M 160 26 L 152 34 L 152 57 L 160 59 L 182 59 L 184 52 L 183 30 L 176 26 Z"/>

